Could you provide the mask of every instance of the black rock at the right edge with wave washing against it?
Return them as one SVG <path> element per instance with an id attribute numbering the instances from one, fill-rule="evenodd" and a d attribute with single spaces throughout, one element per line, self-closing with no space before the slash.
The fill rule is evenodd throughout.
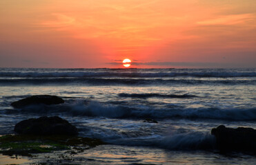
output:
<path id="1" fill-rule="evenodd" d="M 226 128 L 224 125 L 212 129 L 215 135 L 217 148 L 221 152 L 245 151 L 256 152 L 256 130 L 252 128 L 238 127 L 237 129 Z"/>

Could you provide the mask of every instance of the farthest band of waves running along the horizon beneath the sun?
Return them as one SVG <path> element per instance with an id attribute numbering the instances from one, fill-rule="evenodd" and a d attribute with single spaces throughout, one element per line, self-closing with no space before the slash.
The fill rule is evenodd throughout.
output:
<path id="1" fill-rule="evenodd" d="M 255 69 L 0 69 L 3 78 L 256 77 Z"/>

